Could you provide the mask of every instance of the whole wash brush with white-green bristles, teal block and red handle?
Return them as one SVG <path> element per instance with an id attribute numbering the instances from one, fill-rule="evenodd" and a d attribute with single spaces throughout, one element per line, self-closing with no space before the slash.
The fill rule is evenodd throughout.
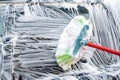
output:
<path id="1" fill-rule="evenodd" d="M 83 16 L 74 17 L 65 27 L 58 41 L 56 60 L 63 70 L 68 70 L 71 65 L 77 63 L 85 53 L 85 47 L 89 46 L 120 56 L 120 52 L 94 44 L 90 41 L 92 24 Z"/>

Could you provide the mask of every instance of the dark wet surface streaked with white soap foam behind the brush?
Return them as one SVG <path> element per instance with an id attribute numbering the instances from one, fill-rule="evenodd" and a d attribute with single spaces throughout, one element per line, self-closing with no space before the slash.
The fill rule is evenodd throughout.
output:
<path id="1" fill-rule="evenodd" d="M 117 0 L 118 1 L 118 0 Z M 89 49 L 72 70 L 63 71 L 55 51 L 60 34 L 78 15 L 94 26 L 91 41 L 120 50 L 118 2 L 103 4 L 0 5 L 0 71 L 2 80 L 119 80 L 118 56 Z M 69 1 L 68 1 L 69 2 Z M 2 58 L 3 56 L 3 58 Z M 86 63 L 84 63 L 86 60 Z"/>

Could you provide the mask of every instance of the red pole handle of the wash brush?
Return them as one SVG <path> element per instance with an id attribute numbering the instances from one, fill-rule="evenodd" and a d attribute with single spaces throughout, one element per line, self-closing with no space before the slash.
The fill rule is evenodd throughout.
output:
<path id="1" fill-rule="evenodd" d="M 96 48 L 96 49 L 99 49 L 99 50 L 103 50 L 103 51 L 106 51 L 106 52 L 109 52 L 109 53 L 112 53 L 112 54 L 120 56 L 120 52 L 119 51 L 112 50 L 110 48 L 94 44 L 92 42 L 88 42 L 86 45 L 90 46 L 90 47 L 93 47 L 93 48 Z"/>

